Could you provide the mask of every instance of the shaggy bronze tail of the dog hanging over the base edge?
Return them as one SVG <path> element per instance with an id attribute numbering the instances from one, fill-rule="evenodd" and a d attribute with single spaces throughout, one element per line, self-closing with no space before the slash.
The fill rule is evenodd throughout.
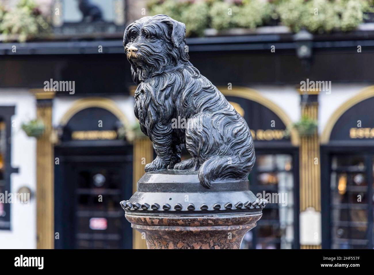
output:
<path id="1" fill-rule="evenodd" d="M 240 161 L 239 157 L 211 156 L 200 166 L 200 183 L 206 188 L 211 188 L 212 182 L 216 179 L 245 179 L 251 171 L 254 161 L 253 157 L 252 161 L 243 167 L 243 161 Z"/>

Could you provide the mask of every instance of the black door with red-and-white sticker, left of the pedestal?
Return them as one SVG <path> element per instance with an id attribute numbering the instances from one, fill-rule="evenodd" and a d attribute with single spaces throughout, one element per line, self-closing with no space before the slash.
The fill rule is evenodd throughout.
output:
<path id="1" fill-rule="evenodd" d="M 119 204 L 132 195 L 132 146 L 113 142 L 55 147 L 55 248 L 132 248 Z"/>

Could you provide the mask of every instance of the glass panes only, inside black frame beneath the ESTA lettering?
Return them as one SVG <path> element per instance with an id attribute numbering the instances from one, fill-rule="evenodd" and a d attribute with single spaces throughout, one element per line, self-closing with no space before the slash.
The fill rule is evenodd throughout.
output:
<path id="1" fill-rule="evenodd" d="M 368 248 L 365 155 L 333 155 L 331 169 L 331 248 Z"/>

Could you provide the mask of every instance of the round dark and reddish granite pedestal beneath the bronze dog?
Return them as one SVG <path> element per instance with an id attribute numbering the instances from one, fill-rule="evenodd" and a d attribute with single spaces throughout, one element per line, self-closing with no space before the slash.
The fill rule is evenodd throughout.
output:
<path id="1" fill-rule="evenodd" d="M 267 203 L 248 180 L 217 180 L 207 189 L 188 170 L 146 173 L 137 187 L 121 206 L 151 249 L 239 249 Z"/>

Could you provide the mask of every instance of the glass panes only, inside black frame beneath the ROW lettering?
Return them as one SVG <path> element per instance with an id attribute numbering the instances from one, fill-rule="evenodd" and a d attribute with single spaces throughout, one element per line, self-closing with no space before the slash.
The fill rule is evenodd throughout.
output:
<path id="1" fill-rule="evenodd" d="M 243 238 L 241 248 L 292 248 L 294 242 L 294 173 L 292 155 L 256 155 L 250 189 L 268 200 L 261 221 Z"/>

